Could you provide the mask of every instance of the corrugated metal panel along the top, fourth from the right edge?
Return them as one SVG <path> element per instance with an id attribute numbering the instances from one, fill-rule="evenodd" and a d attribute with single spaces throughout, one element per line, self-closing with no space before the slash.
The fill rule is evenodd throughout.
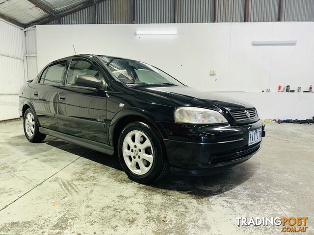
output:
<path id="1" fill-rule="evenodd" d="M 214 0 L 178 0 L 177 23 L 209 23 L 214 21 Z"/>

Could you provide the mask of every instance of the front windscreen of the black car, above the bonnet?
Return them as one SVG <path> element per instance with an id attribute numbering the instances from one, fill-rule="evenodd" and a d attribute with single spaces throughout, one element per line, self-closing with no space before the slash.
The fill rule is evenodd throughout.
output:
<path id="1" fill-rule="evenodd" d="M 183 86 L 167 73 L 136 60 L 120 59 L 108 56 L 100 57 L 114 76 L 127 84 L 169 84 Z"/>

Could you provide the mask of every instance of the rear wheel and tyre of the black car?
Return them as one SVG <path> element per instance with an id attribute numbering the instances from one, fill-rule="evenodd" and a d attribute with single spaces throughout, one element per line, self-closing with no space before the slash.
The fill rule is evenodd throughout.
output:
<path id="1" fill-rule="evenodd" d="M 24 134 L 29 142 L 41 142 L 46 135 L 39 133 L 38 122 L 33 111 L 28 108 L 23 117 Z"/>

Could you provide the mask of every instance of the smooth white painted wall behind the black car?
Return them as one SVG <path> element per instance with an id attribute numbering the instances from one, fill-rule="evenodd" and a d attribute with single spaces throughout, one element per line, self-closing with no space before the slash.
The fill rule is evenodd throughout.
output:
<path id="1" fill-rule="evenodd" d="M 147 29 L 176 29 L 178 34 L 135 34 Z M 75 45 L 77 53 L 153 64 L 204 91 L 233 92 L 229 95 L 255 104 L 262 118 L 314 116 L 314 94 L 276 92 L 278 85 L 308 90 L 314 84 L 313 22 L 38 25 L 36 30 L 38 71 L 73 55 Z M 297 44 L 253 46 L 253 40 L 297 40 Z M 210 76 L 210 70 L 216 75 Z M 261 93 L 266 89 L 273 93 Z"/>

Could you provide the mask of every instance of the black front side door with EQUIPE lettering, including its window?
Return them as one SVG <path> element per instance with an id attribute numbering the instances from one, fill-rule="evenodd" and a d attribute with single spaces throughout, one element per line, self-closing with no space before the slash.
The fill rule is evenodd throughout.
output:
<path id="1" fill-rule="evenodd" d="M 73 59 L 58 93 L 60 132 L 107 143 L 105 91 L 73 84 L 77 75 L 91 75 L 105 81 L 96 65 L 86 59 Z"/>

